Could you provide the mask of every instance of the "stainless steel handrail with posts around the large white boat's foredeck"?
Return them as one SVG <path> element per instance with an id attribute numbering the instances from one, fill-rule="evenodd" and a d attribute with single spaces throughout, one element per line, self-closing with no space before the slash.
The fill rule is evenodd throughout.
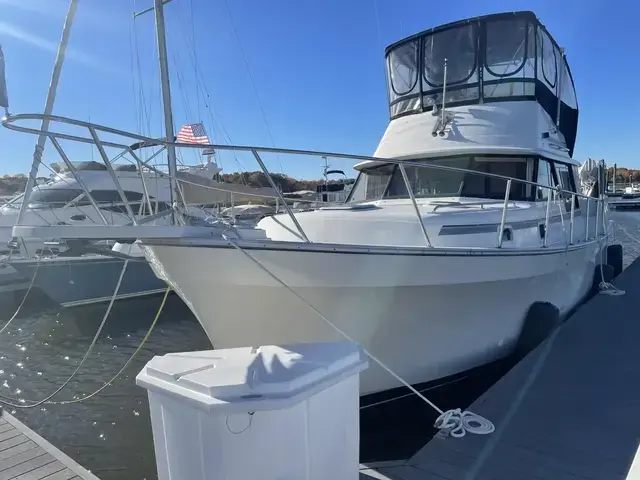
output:
<path id="1" fill-rule="evenodd" d="M 58 122 L 58 123 L 63 123 L 63 124 L 69 124 L 69 125 L 73 125 L 76 127 L 84 127 L 88 130 L 89 132 L 89 136 L 78 136 L 78 135 L 72 135 L 72 134 L 68 134 L 68 133 L 61 133 L 61 132 L 55 132 L 55 131 L 51 131 L 51 129 L 47 130 L 47 131 L 42 131 L 40 129 L 36 129 L 36 128 L 30 128 L 30 127 L 25 127 L 22 125 L 17 124 L 16 122 L 20 122 L 20 121 L 25 121 L 25 120 L 38 120 L 38 119 L 47 119 L 50 122 Z M 497 247 L 500 248 L 502 247 L 502 242 L 503 242 L 503 232 L 504 232 L 504 227 L 505 224 L 507 222 L 507 213 L 509 210 L 509 201 L 510 201 L 510 195 L 511 195 L 511 188 L 512 188 L 512 184 L 513 182 L 517 182 L 519 184 L 524 184 L 524 185 L 531 185 L 533 187 L 535 187 L 535 189 L 543 189 L 543 190 L 548 190 L 548 195 L 547 195 L 547 206 L 546 206 L 546 214 L 545 214 L 545 221 L 544 221 L 544 237 L 543 237 L 543 247 L 547 247 L 548 244 L 548 236 L 549 236 L 549 222 L 550 222 L 550 212 L 551 212 L 551 197 L 552 195 L 554 196 L 555 201 L 557 201 L 557 199 L 562 199 L 565 195 L 566 196 L 570 196 L 571 198 L 571 215 L 570 215 L 570 234 L 569 234 L 569 238 L 567 238 L 566 235 L 566 230 L 565 230 L 565 242 L 567 244 L 573 244 L 573 234 L 574 234 L 574 221 L 575 221 L 575 203 L 576 203 L 576 199 L 577 198 L 581 198 L 581 199 L 586 199 L 586 203 L 587 203 L 587 207 L 586 207 L 586 219 L 585 219 L 585 224 L 586 224 L 586 235 L 585 235 L 585 241 L 588 241 L 590 238 L 589 235 L 589 207 L 590 207 L 590 202 L 591 200 L 593 200 L 592 197 L 589 197 L 587 195 L 583 195 L 581 193 L 577 193 L 577 192 L 572 192 L 569 190 L 564 190 L 562 188 L 560 188 L 559 186 L 550 186 L 550 185 L 542 185 L 539 184 L 537 182 L 534 181 L 530 181 L 530 180 L 523 180 L 523 179 L 518 179 L 518 178 L 512 178 L 512 177 L 508 177 L 505 175 L 499 175 L 499 174 L 495 174 L 495 173 L 488 173 L 488 172 L 479 172 L 479 171 L 472 171 L 472 170 L 467 170 L 464 168 L 457 168 L 457 167 L 450 167 L 450 166 L 445 166 L 445 165 L 435 165 L 432 164 L 430 162 L 425 162 L 425 161 L 417 161 L 415 159 L 396 159 L 396 158 L 380 158 L 380 157 L 373 157 L 373 156 L 366 156 L 366 155 L 355 155 L 355 154 L 343 154 L 343 153 L 334 153 L 334 152 L 323 152 L 323 151 L 313 151 L 313 150 L 297 150 L 297 149 L 284 149 L 284 148 L 270 148 L 270 147 L 255 147 L 255 146 L 244 146 L 244 145 L 218 145 L 218 144 L 192 144 L 192 143 L 178 143 L 175 141 L 168 141 L 166 139 L 154 139 L 154 138 L 150 138 L 150 137 L 146 137 L 143 135 L 138 135 L 135 133 L 131 133 L 131 132 L 126 132 L 123 130 L 118 130 L 118 129 L 114 129 L 111 127 L 106 127 L 103 125 L 98 125 L 98 124 L 93 124 L 90 122 L 84 122 L 81 120 L 75 120 L 75 119 L 71 119 L 68 117 L 62 117 L 62 116 L 57 116 L 57 115 L 44 115 L 44 114 L 16 114 L 16 115 L 10 115 L 7 116 L 5 118 L 2 119 L 1 121 L 2 125 L 10 130 L 14 130 L 14 131 L 20 131 L 20 132 L 24 132 L 24 133 L 31 133 L 31 134 L 38 134 L 38 135 L 46 135 L 50 140 L 52 140 L 52 143 L 57 144 L 56 139 L 65 139 L 65 140 L 71 140 L 71 141 L 76 141 L 76 142 L 80 142 L 80 143 L 88 143 L 88 144 L 93 144 L 93 145 L 97 145 L 98 146 L 98 150 L 101 153 L 101 157 L 103 157 L 103 160 L 106 162 L 108 161 L 108 158 L 106 157 L 106 154 L 103 154 L 104 152 L 104 147 L 113 147 L 113 148 L 120 148 L 122 149 L 125 153 L 130 153 L 132 154 L 132 149 L 131 149 L 131 141 L 130 140 L 136 140 L 138 142 L 143 142 L 146 146 L 149 147 L 163 147 L 162 149 L 160 149 L 160 151 L 164 150 L 166 147 L 180 147 L 180 148 L 194 148 L 194 149 L 199 149 L 199 150 L 203 150 L 203 149 L 214 149 L 214 150 L 218 150 L 218 151 L 241 151 L 241 152 L 248 152 L 251 153 L 254 157 L 254 159 L 256 160 L 256 162 L 259 164 L 262 172 L 265 174 L 265 176 L 267 177 L 267 180 L 269 181 L 271 187 L 275 190 L 276 195 L 264 195 L 264 194 L 255 194 L 255 193 L 251 193 L 251 192 L 242 192 L 242 195 L 247 195 L 247 196 L 256 196 L 256 197 L 262 197 L 262 198 L 276 198 L 276 200 L 280 203 L 283 204 L 283 207 L 286 210 L 287 215 L 291 218 L 291 221 L 293 222 L 293 224 L 295 225 L 296 229 L 298 230 L 298 232 L 300 233 L 300 236 L 304 239 L 305 242 L 309 242 L 309 238 L 307 237 L 306 233 L 304 232 L 302 226 L 300 225 L 300 223 L 298 222 L 298 219 L 295 217 L 295 215 L 293 214 L 291 208 L 289 208 L 289 205 L 287 204 L 282 192 L 279 191 L 279 189 L 277 188 L 273 178 L 271 177 L 271 174 L 269 173 L 269 171 L 267 170 L 261 156 L 260 153 L 277 153 L 277 154 L 291 154 L 291 155 L 304 155 L 304 156 L 313 156 L 313 157 L 332 157 L 332 158 L 339 158 L 339 159 L 345 159 L 345 160 L 358 160 L 358 161 L 373 161 L 373 162 L 377 162 L 377 163 L 382 163 L 382 164 L 395 164 L 399 166 L 399 170 L 400 173 L 402 174 L 402 178 L 404 181 L 404 185 L 407 189 L 407 195 L 408 198 L 411 200 L 411 203 L 413 204 L 416 216 L 418 218 L 419 224 L 420 224 L 420 228 L 422 230 L 422 233 L 425 237 L 425 242 L 427 244 L 427 246 L 432 247 L 432 243 L 429 239 L 429 235 L 427 232 L 427 229 L 425 227 L 422 215 L 420 213 L 420 207 L 418 205 L 418 202 L 416 200 L 416 196 L 413 192 L 413 189 L 411 187 L 408 175 L 407 175 L 407 171 L 406 171 L 406 165 L 410 165 L 410 166 L 414 166 L 414 167 L 419 167 L 419 168 L 432 168 L 432 169 L 436 169 L 436 170 L 446 170 L 446 171 L 454 171 L 454 172 L 461 172 L 461 173 L 470 173 L 470 174 L 475 174 L 475 175 L 482 175 L 484 177 L 490 177 L 490 178 L 495 178 L 495 179 L 501 179 L 507 182 L 506 185 L 506 189 L 505 189 L 505 197 L 504 197 L 504 201 L 502 202 L 502 215 L 501 215 L 501 219 L 500 219 L 500 224 L 499 224 L 499 231 L 498 233 L 498 240 L 497 240 Z M 125 137 L 127 138 L 129 141 L 127 143 L 117 143 L 114 141 L 105 141 L 105 140 L 101 140 L 98 136 L 98 132 L 101 133 L 107 133 L 110 135 L 115 135 L 115 136 L 121 136 L 121 137 Z M 59 144 L 58 144 L 59 145 Z M 61 149 L 58 149 L 59 153 L 61 154 L 61 156 L 63 157 L 63 159 L 66 157 L 64 155 L 64 152 L 61 151 Z M 156 152 L 155 155 L 157 155 L 159 152 Z M 154 171 L 156 174 L 160 175 L 160 176 L 166 176 L 171 178 L 170 174 L 164 173 L 160 170 L 158 170 L 157 168 L 151 166 L 148 164 L 148 161 L 142 161 L 139 157 L 137 157 L 136 155 L 133 155 L 134 160 L 136 161 L 136 163 L 138 164 L 139 167 L 141 167 L 142 165 L 144 165 L 145 167 L 149 168 L 150 170 Z M 150 159 L 149 159 L 150 160 Z M 68 161 L 68 159 L 67 159 Z M 66 161 L 65 161 L 66 163 Z M 109 166 L 107 166 L 107 169 L 109 170 L 109 173 L 112 174 L 112 176 L 114 177 L 114 180 L 117 180 L 115 178 L 115 175 L 113 174 L 113 169 L 110 169 Z M 77 178 L 77 172 L 75 172 L 74 170 L 71 170 L 71 173 L 76 176 Z M 203 184 L 199 184 L 196 182 L 191 182 L 187 179 L 178 179 L 176 178 L 177 182 L 177 190 L 178 190 L 178 196 L 182 197 L 181 200 L 183 202 L 183 204 L 186 206 L 186 202 L 184 197 L 182 196 L 182 189 L 180 188 L 180 184 L 184 183 L 184 184 L 192 184 L 192 185 L 196 185 L 198 187 L 202 187 L 202 188 L 206 188 L 206 189 L 211 189 L 211 190 L 219 190 L 219 191 L 225 191 L 225 192 L 231 192 L 232 197 L 234 193 L 238 193 L 238 192 L 234 192 L 232 189 L 229 188 L 224 188 L 224 184 L 219 184 L 220 186 L 211 186 L 211 185 L 203 185 Z M 82 185 L 82 184 L 81 184 Z M 132 220 L 136 221 L 135 219 L 135 215 L 133 214 L 130 205 L 126 199 L 126 197 L 124 196 L 124 193 L 122 192 L 122 189 L 120 187 L 120 185 L 118 184 L 118 182 L 116 181 L 116 188 L 118 189 L 118 193 L 120 194 L 120 196 L 123 199 L 123 202 L 125 203 L 125 208 L 127 210 L 127 213 L 131 216 Z M 86 190 L 86 189 L 85 189 Z M 148 197 L 148 192 L 146 191 L 146 185 L 143 185 L 143 190 L 145 191 L 145 197 L 147 199 L 147 202 L 149 202 L 149 197 Z M 96 207 L 97 209 L 97 205 L 95 204 L 95 202 L 93 201 L 93 199 L 91 198 L 89 192 L 87 192 L 88 198 L 90 200 L 90 202 L 92 203 L 92 205 L 94 207 Z M 535 193 L 534 193 L 535 195 Z M 304 201 L 304 200 L 302 200 Z M 597 198 L 596 199 L 596 232 L 595 232 L 595 237 L 598 238 L 599 235 L 599 221 L 600 221 L 600 208 L 601 206 L 604 206 L 604 200 L 601 196 L 601 198 Z M 482 202 L 482 204 L 487 203 L 487 202 Z M 499 202 L 496 202 L 499 203 Z M 513 202 L 514 205 L 517 205 L 515 202 Z M 437 207 L 436 207 L 437 208 Z M 562 205 L 560 206 L 560 208 L 562 209 Z M 97 209 L 98 210 L 98 209 Z M 435 210 L 435 209 L 434 209 Z M 98 213 L 99 210 L 98 210 Z M 562 216 L 562 210 L 560 211 L 560 214 Z M 602 218 L 604 220 L 604 211 L 602 212 Z M 563 228 L 564 228 L 564 219 L 563 219 Z M 606 234 L 606 228 L 603 228 L 603 233 Z"/>

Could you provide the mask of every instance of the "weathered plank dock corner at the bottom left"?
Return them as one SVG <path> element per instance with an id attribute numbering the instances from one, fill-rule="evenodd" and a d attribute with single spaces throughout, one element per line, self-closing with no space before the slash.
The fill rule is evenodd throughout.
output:
<path id="1" fill-rule="evenodd" d="M 0 418 L 0 480 L 99 480 L 15 417 Z"/>

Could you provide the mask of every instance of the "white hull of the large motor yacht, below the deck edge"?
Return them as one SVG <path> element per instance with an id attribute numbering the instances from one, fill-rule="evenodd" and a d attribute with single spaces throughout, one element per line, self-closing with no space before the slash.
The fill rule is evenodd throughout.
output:
<path id="1" fill-rule="evenodd" d="M 216 348 L 342 339 L 243 253 L 214 244 L 145 250 Z M 287 250 L 247 251 L 412 384 L 508 355 L 533 302 L 566 313 L 582 300 L 599 252 L 595 242 L 483 255 Z M 363 395 L 398 386 L 375 365 L 361 377 Z"/>

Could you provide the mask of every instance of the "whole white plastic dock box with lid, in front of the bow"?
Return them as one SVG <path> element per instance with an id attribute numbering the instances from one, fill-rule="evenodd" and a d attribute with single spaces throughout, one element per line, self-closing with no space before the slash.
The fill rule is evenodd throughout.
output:
<path id="1" fill-rule="evenodd" d="M 353 343 L 155 357 L 149 394 L 160 480 L 358 478 L 359 372 Z"/>

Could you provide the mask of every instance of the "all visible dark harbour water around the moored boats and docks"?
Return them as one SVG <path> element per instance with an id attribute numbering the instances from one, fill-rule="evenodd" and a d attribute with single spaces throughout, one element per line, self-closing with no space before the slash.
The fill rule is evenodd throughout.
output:
<path id="1" fill-rule="evenodd" d="M 640 212 L 614 212 L 612 218 L 619 224 L 617 241 L 625 246 L 628 265 L 640 256 Z M 79 398 L 115 375 L 144 337 L 160 301 L 156 296 L 117 303 L 91 357 L 56 399 Z M 34 303 L 0 334 L 0 395 L 39 400 L 51 394 L 76 368 L 106 309 L 99 305 L 42 311 L 42 304 Z M 102 480 L 154 479 L 146 391 L 135 385 L 135 375 L 153 355 L 208 348 L 211 344 L 198 322 L 171 295 L 143 350 L 100 395 L 75 404 L 6 409 Z M 457 382 L 446 393 L 427 394 L 444 408 L 463 407 L 509 366 L 494 365 L 476 378 Z M 406 445 L 398 439 L 411 440 L 409 447 L 415 449 L 431 434 L 435 417 L 424 412 L 415 397 L 391 402 L 383 410 L 363 411 L 363 448 L 373 457 L 384 449 L 392 457 L 406 458 Z"/>

